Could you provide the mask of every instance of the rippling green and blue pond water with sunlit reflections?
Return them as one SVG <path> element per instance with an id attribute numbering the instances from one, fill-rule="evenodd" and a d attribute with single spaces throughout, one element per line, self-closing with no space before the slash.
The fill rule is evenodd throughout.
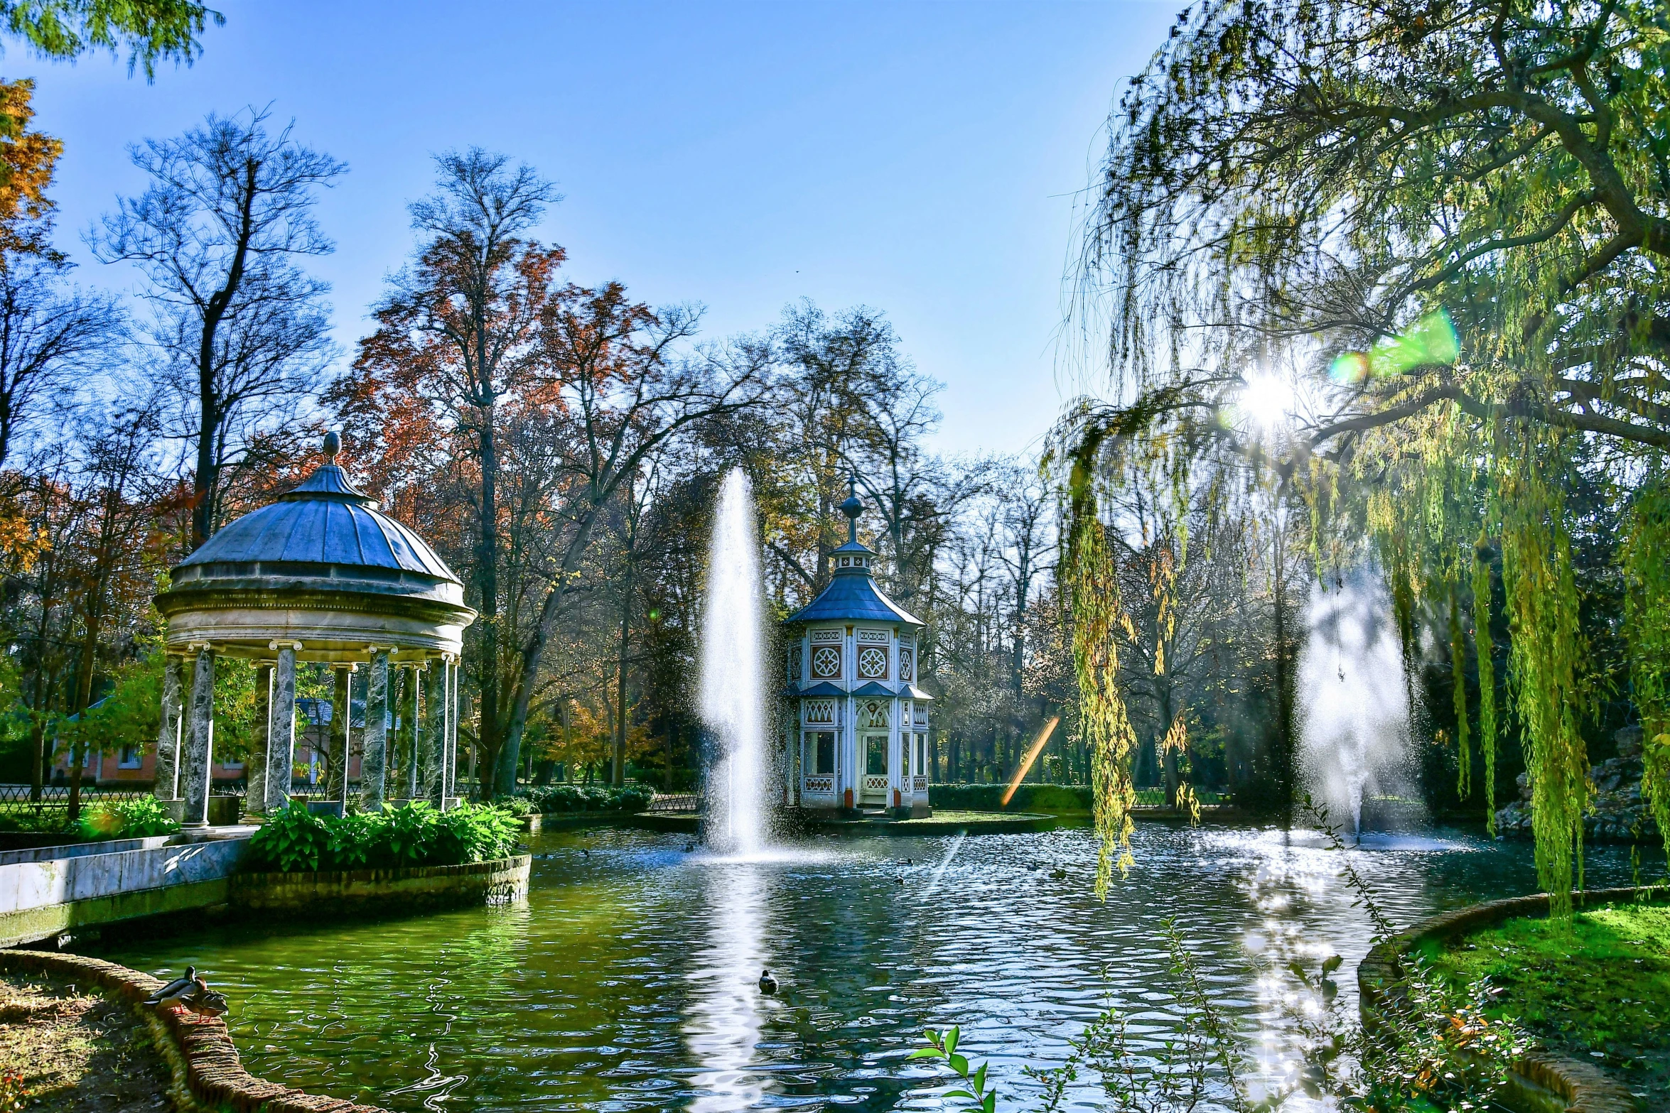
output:
<path id="1" fill-rule="evenodd" d="M 952 1023 L 1014 1110 L 1035 1095 L 1022 1066 L 1059 1061 L 1107 1001 L 1144 1040 L 1176 1031 L 1166 916 L 1266 1080 L 1289 1066 L 1284 964 L 1344 954 L 1354 1008 L 1369 943 L 1339 854 L 1306 833 L 1142 824 L 1106 904 L 1087 829 L 827 838 L 760 861 L 685 841 L 548 834 L 508 908 L 205 924 L 102 953 L 204 969 L 252 1073 L 402 1113 L 942 1108 L 944 1076 L 905 1056 Z M 1536 888 L 1523 843 L 1376 834 L 1349 853 L 1399 924 Z M 1590 853 L 1592 886 L 1628 881 L 1627 851 Z"/>

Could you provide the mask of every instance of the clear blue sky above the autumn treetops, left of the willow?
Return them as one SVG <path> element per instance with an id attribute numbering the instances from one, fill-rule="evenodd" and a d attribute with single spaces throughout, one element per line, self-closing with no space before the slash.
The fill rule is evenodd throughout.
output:
<path id="1" fill-rule="evenodd" d="M 339 340 L 412 247 L 433 152 L 483 145 L 564 200 L 541 237 L 579 282 L 701 302 L 711 337 L 812 297 L 893 320 L 947 384 L 945 452 L 1032 452 L 1079 370 L 1057 359 L 1075 204 L 1159 3 L 242 3 L 155 83 L 10 47 L 65 142 L 55 195 L 78 280 L 87 227 L 142 189 L 125 145 L 269 105 L 349 164 L 319 219 Z"/>

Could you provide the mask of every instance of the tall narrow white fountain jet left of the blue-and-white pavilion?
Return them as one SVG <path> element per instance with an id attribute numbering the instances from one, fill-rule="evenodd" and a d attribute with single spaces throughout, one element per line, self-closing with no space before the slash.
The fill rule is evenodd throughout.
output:
<path id="1" fill-rule="evenodd" d="M 708 841 L 730 854 L 763 843 L 765 699 L 760 542 L 753 492 L 740 467 L 725 476 L 708 552 L 701 624 L 701 721 L 716 743 L 708 776 Z"/>

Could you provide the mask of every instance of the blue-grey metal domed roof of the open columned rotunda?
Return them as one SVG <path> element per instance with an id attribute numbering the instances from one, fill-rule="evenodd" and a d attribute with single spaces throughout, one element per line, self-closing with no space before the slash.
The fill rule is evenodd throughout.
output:
<path id="1" fill-rule="evenodd" d="M 180 567 L 252 562 L 376 567 L 463 582 L 423 537 L 379 512 L 376 499 L 336 464 L 229 524 Z"/>

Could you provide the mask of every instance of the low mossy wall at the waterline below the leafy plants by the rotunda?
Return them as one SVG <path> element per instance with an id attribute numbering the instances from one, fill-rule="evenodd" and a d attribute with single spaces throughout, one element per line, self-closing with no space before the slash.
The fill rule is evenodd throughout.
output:
<path id="1" fill-rule="evenodd" d="M 528 896 L 531 864 L 531 854 L 516 854 L 464 866 L 234 873 L 227 898 L 234 911 L 262 916 L 504 904 Z"/>

